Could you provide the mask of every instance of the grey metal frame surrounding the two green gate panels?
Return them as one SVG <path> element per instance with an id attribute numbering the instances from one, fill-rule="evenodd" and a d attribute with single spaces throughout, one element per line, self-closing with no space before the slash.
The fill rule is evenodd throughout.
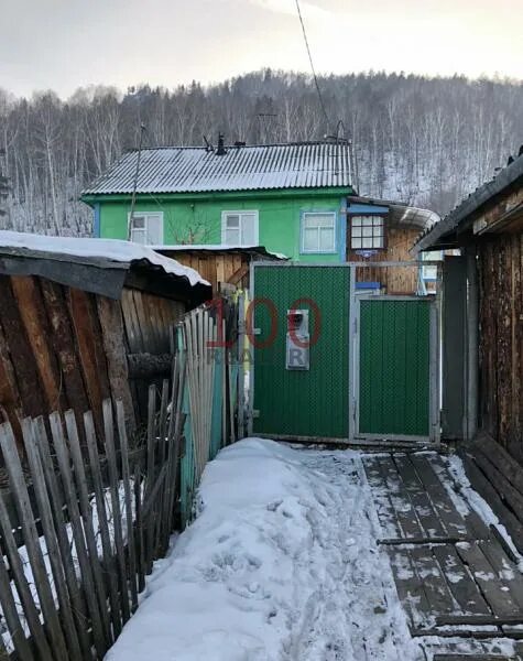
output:
<path id="1" fill-rule="evenodd" d="M 303 261 L 282 261 L 274 262 L 270 260 L 258 260 L 252 261 L 249 267 L 249 302 L 255 297 L 254 285 L 255 285 L 255 269 L 258 267 L 270 267 L 270 268 L 286 268 L 286 269 L 299 269 L 299 268 L 331 268 L 331 269 L 349 269 L 349 310 L 348 310 L 348 327 L 349 327 L 349 360 L 347 365 L 348 370 L 348 393 L 349 401 L 347 402 L 347 414 L 348 414 L 348 437 L 347 438 L 330 438 L 323 436 L 295 436 L 288 434 L 264 434 L 257 432 L 259 437 L 268 437 L 280 441 L 293 441 L 296 443 L 336 443 L 338 445 L 353 445 L 360 447 L 377 447 L 380 448 L 390 446 L 391 448 L 394 445 L 399 445 L 402 447 L 426 447 L 429 445 L 432 448 L 439 447 L 440 444 L 440 284 L 442 284 L 442 266 L 443 262 L 439 260 L 411 260 L 411 261 L 381 261 L 381 262 L 303 262 Z M 353 389 L 355 384 L 355 365 L 359 364 L 359 353 L 357 355 L 357 360 L 355 360 L 355 338 L 358 335 L 356 333 L 357 323 L 359 322 L 359 316 L 356 316 L 357 305 L 359 312 L 359 303 L 358 299 L 361 300 L 364 295 L 356 294 L 356 270 L 358 268 L 417 268 L 418 270 L 422 267 L 437 267 L 437 280 L 436 280 L 436 293 L 435 294 L 424 294 L 424 295 L 408 295 L 408 296 L 394 296 L 394 294 L 374 294 L 369 296 L 373 300 L 383 300 L 386 299 L 408 299 L 408 300 L 420 300 L 420 299 L 428 299 L 433 303 L 431 305 L 431 364 L 429 364 L 429 381 L 435 384 L 434 388 L 429 389 L 429 435 L 428 436 L 397 436 L 393 434 L 366 434 L 362 437 L 359 434 L 356 434 L 355 429 L 355 419 L 352 416 L 353 403 L 355 403 L 355 394 L 356 390 Z M 358 318 L 358 322 L 357 322 Z M 257 328 L 253 328 L 253 333 L 257 333 Z M 352 350 L 351 350 L 352 349 Z M 358 347 L 359 349 L 359 347 Z M 253 433 L 253 419 L 255 416 L 254 409 L 254 371 L 255 371 L 255 347 L 251 344 L 250 346 L 250 355 L 251 355 L 251 364 L 249 367 L 249 405 L 247 408 L 247 418 L 248 418 L 248 433 L 251 436 Z M 359 371 L 357 375 L 357 382 L 359 384 Z"/>

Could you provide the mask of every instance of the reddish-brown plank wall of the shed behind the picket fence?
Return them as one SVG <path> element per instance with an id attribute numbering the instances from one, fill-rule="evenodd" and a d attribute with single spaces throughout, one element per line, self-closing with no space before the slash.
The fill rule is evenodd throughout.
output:
<path id="1" fill-rule="evenodd" d="M 67 409 L 92 410 L 101 433 L 101 402 L 111 397 L 133 429 L 141 416 L 128 355 L 168 354 L 185 313 L 185 303 L 137 290 L 115 301 L 33 275 L 0 275 L 0 422 L 19 443 L 24 416 Z"/>

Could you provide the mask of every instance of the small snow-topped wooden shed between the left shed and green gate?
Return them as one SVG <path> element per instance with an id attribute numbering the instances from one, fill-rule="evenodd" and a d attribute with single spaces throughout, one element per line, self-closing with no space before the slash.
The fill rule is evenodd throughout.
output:
<path id="1" fill-rule="evenodd" d="M 263 246 L 157 246 L 156 252 L 175 259 L 200 273 L 219 292 L 220 283 L 238 289 L 249 288 L 250 264 L 258 260 L 285 260 L 284 254 L 270 252 Z"/>

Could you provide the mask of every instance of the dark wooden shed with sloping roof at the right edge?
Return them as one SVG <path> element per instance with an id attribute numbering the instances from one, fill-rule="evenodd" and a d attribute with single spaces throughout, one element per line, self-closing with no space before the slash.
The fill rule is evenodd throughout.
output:
<path id="1" fill-rule="evenodd" d="M 444 264 L 444 425 L 523 463 L 523 148 L 418 241 Z M 444 429 L 445 432 L 445 429 Z"/>

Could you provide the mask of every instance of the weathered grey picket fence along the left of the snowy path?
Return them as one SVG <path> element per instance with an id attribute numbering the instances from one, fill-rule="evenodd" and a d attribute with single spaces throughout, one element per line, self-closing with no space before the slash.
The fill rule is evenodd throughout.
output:
<path id="1" fill-rule="evenodd" d="M 128 437 L 121 401 L 22 421 L 24 456 L 0 425 L 0 657 L 102 659 L 138 607 L 153 561 L 192 518 L 206 462 L 236 438 L 235 380 L 208 308 L 178 326 L 173 376 L 149 389 L 148 426 Z M 219 344 L 219 343 L 218 343 Z M 236 343 L 238 344 L 238 343 Z M 233 362 L 233 361 L 230 361 Z"/>

